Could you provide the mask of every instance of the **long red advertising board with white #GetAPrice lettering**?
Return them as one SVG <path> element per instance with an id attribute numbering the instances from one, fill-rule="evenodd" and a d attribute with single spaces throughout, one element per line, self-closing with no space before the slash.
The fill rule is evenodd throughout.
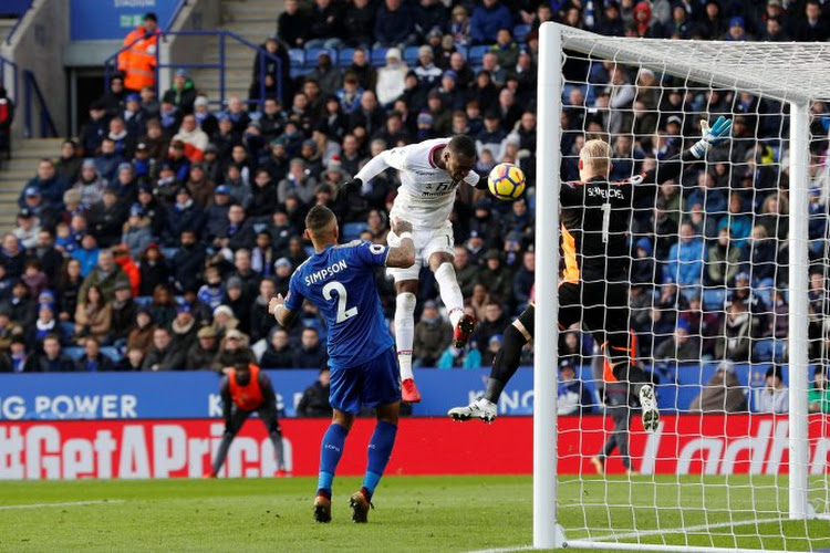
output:
<path id="1" fill-rule="evenodd" d="M 810 416 L 810 473 L 827 471 L 829 418 Z M 560 474 L 593 473 L 590 458 L 602 447 L 612 421 L 600 415 L 559 419 Z M 288 469 L 314 476 L 325 419 L 282 424 Z M 492 425 L 446 418 L 401 420 L 387 474 L 530 474 L 532 418 L 504 417 Z M 0 422 L 0 479 L 200 478 L 210 467 L 224 425 L 216 419 L 63 420 Z M 340 474 L 365 468 L 374 429 L 359 419 L 346 441 Z M 778 474 L 788 470 L 786 416 L 666 416 L 654 434 L 635 420 L 631 432 L 634 468 L 643 474 Z M 619 458 L 606 465 L 622 473 Z M 234 441 L 221 477 L 271 477 L 273 448 L 258 420 Z"/>

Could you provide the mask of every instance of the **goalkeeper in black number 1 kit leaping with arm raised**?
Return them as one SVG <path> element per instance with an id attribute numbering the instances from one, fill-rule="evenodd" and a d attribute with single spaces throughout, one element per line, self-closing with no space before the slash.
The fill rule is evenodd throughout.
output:
<path id="1" fill-rule="evenodd" d="M 618 380 L 629 383 L 640 397 L 643 426 L 657 428 L 660 413 L 645 373 L 632 364 L 629 332 L 627 231 L 634 201 L 654 198 L 658 185 L 678 177 L 684 164 L 703 161 L 713 146 L 729 137 L 732 119 L 718 117 L 709 128 L 701 124 L 703 138 L 682 155 L 665 159 L 656 169 L 631 179 L 610 182 L 611 146 L 588 140 L 579 155 L 580 181 L 564 182 L 560 194 L 561 250 L 564 270 L 559 283 L 559 326 L 580 323 L 608 357 Z M 448 415 L 455 420 L 496 419 L 501 390 L 519 367 L 521 348 L 533 338 L 531 303 L 504 334 L 484 397 Z"/>

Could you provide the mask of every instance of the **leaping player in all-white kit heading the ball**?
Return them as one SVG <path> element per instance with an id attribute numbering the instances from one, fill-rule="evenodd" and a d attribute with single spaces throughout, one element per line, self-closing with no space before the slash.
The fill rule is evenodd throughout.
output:
<path id="1" fill-rule="evenodd" d="M 418 292 L 418 273 L 428 263 L 440 289 L 440 299 L 453 324 L 456 347 L 467 345 L 475 321 L 464 313 L 464 296 L 453 268 L 455 239 L 449 215 L 455 204 L 456 187 L 465 181 L 486 189 L 473 171 L 476 164 L 476 144 L 469 136 L 435 138 L 382 152 L 373 157 L 343 191 L 356 192 L 382 171 L 394 168 L 401 171 L 401 187 L 390 217 L 405 217 L 412 221 L 415 241 L 415 264 L 406 269 L 390 269 L 395 279 L 395 343 L 401 364 L 404 401 L 421 401 L 412 372 L 412 347 L 415 337 L 415 302 Z M 401 237 L 393 229 L 387 243 L 400 246 Z"/>

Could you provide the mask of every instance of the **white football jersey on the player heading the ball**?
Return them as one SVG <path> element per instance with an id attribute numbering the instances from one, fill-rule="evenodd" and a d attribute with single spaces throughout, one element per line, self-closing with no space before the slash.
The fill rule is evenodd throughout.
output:
<path id="1" fill-rule="evenodd" d="M 449 174 L 433 164 L 433 154 L 449 138 L 434 138 L 419 144 L 382 152 L 372 158 L 355 178 L 364 182 L 393 167 L 401 171 L 401 187 L 392 206 L 392 217 L 401 217 L 413 227 L 436 227 L 449 218 L 455 202 L 456 185 Z M 467 174 L 465 182 L 475 186 L 478 175 Z"/>

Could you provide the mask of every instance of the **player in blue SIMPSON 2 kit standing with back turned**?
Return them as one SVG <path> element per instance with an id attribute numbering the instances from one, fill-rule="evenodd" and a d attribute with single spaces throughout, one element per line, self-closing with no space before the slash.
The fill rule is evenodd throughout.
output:
<path id="1" fill-rule="evenodd" d="M 412 225 L 392 219 L 401 246 L 386 247 L 355 240 L 338 246 L 338 219 L 323 206 L 305 216 L 305 238 L 314 254 L 291 275 L 283 300 L 268 304 L 277 322 L 288 327 L 302 310 L 303 300 L 313 303 L 329 327 L 331 366 L 329 401 L 332 424 L 320 445 L 320 473 L 314 499 L 314 520 L 331 521 L 334 472 L 343 453 L 346 435 L 362 406 L 372 407 L 377 425 L 369 442 L 369 462 L 363 487 L 352 494 L 354 522 L 366 522 L 372 494 L 392 455 L 401 410 L 401 375 L 392 336 L 383 316 L 375 284 L 376 267 L 406 269 L 415 263 Z"/>

